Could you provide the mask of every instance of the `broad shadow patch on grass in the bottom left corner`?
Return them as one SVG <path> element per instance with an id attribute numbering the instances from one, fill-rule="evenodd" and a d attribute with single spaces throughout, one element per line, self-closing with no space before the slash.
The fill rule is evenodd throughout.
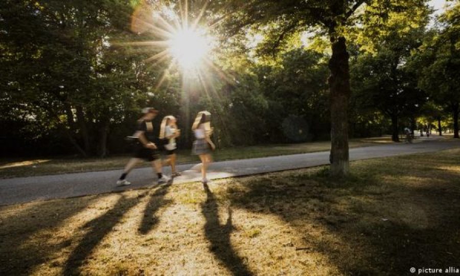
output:
<path id="1" fill-rule="evenodd" d="M 0 275 L 29 275 L 33 269 L 50 261 L 53 252 L 70 242 L 52 242 L 56 227 L 62 221 L 84 210 L 95 198 L 50 200 L 30 203 L 21 211 L 0 221 Z M 0 210 L 10 207 L 5 206 Z M 35 237 L 36 235 L 36 237 Z"/>

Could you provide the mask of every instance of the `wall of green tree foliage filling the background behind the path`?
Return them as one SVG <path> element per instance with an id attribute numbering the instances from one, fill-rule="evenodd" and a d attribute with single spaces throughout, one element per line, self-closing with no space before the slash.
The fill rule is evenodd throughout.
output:
<path id="1" fill-rule="evenodd" d="M 177 2 L 162 3 L 180 13 Z M 158 39 L 130 28 L 133 13 L 149 14 L 148 5 L 157 4 L 0 3 L 4 149 L 86 156 L 125 151 L 122 138 L 144 106 L 160 109 L 159 117 L 178 117 L 182 148 L 190 147 L 188 130 L 203 109 L 213 113 L 220 147 L 329 139 L 328 77 L 340 62 L 328 61 L 337 37 L 347 39 L 351 57 L 349 119 L 339 118 L 351 124 L 351 136 L 381 134 L 392 118 L 397 132 L 401 120 L 415 123 L 419 116 L 427 123 L 446 119 L 445 127 L 458 129 L 458 3 L 427 31 L 432 11 L 425 0 L 212 1 L 203 18 L 216 33 L 212 59 L 220 70 L 200 76 L 165 70 L 167 61 L 147 61 L 155 49 L 125 43 Z M 203 5 L 189 2 L 191 19 Z M 311 37 L 303 44 L 306 33 Z"/>

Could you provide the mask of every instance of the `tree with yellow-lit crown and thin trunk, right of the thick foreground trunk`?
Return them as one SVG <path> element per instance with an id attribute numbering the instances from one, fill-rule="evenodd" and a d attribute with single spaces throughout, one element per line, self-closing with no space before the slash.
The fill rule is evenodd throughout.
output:
<path id="1" fill-rule="evenodd" d="M 360 49 L 352 63 L 354 97 L 364 108 L 377 109 L 390 119 L 392 140 L 399 141 L 402 118 L 415 128 L 416 117 L 425 102 L 411 66 L 412 52 L 425 35 L 430 9 L 423 3 L 401 6 L 389 12 L 380 24 L 378 6 L 370 5 L 363 24 L 352 28 L 350 38 Z"/>

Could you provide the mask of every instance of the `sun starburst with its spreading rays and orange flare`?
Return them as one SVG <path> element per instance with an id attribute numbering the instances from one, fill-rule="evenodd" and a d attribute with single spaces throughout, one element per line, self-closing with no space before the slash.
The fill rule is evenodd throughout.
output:
<path id="1" fill-rule="evenodd" d="M 155 40 L 115 42 L 117 45 L 145 47 L 154 53 L 144 62 L 165 67 L 162 76 L 157 78 L 155 90 L 162 87 L 171 72 L 180 73 L 182 84 L 198 81 L 206 93 L 215 90 L 213 78 L 233 82 L 234 77 L 217 65 L 221 53 L 214 30 L 219 21 L 210 22 L 203 18 L 209 2 L 205 1 L 201 8 L 190 13 L 193 17 L 189 16 L 187 1 L 183 5 L 180 1 L 178 5 L 169 6 L 160 2 L 141 1 L 131 17 L 133 33 L 150 33 Z M 163 63 L 168 60 L 169 64 Z"/>

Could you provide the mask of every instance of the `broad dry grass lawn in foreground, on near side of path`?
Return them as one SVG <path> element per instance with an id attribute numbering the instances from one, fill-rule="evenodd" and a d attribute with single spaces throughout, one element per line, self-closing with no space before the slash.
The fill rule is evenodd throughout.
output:
<path id="1" fill-rule="evenodd" d="M 460 268 L 460 149 L 0 208 L 0 275 Z M 416 272 L 417 273 L 417 272 Z"/>

